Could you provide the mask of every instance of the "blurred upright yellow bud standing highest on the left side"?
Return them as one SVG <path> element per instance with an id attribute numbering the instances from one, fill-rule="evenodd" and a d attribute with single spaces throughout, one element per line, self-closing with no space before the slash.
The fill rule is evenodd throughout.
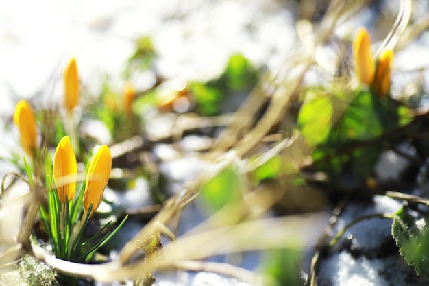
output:
<path id="1" fill-rule="evenodd" d="M 64 71 L 64 106 L 72 112 L 79 102 L 79 75 L 77 74 L 76 59 L 71 58 Z"/>

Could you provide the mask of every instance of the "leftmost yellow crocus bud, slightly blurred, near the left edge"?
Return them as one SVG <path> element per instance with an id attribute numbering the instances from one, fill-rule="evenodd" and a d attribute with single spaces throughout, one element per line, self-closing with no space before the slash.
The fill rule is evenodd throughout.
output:
<path id="1" fill-rule="evenodd" d="M 23 149 L 34 157 L 37 147 L 37 123 L 32 107 L 25 99 L 21 99 L 16 104 L 14 123 L 18 127 Z"/>

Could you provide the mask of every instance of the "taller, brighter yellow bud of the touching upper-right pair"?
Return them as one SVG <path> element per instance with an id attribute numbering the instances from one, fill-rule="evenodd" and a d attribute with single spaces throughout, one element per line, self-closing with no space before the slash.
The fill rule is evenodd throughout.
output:
<path id="1" fill-rule="evenodd" d="M 370 85 L 376 71 L 376 63 L 371 53 L 371 37 L 364 27 L 358 29 L 352 49 L 356 75 L 360 82 Z"/>

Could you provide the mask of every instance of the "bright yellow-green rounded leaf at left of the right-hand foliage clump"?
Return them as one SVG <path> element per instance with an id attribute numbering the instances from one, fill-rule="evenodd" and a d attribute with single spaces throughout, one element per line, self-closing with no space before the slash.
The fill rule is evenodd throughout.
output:
<path id="1" fill-rule="evenodd" d="M 299 111 L 298 126 L 311 145 L 326 141 L 330 133 L 333 113 L 334 106 L 329 97 L 316 95 L 304 103 Z"/>

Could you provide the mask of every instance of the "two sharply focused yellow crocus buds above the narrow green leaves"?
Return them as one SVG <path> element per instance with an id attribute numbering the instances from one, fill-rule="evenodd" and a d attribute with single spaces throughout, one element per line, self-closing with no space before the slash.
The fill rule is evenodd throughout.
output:
<path id="1" fill-rule="evenodd" d="M 106 189 L 110 170 L 112 169 L 112 157 L 106 145 L 99 147 L 90 161 L 86 186 L 83 196 L 85 211 L 93 213 L 100 206 Z M 62 204 L 68 203 L 75 195 L 77 176 L 76 156 L 70 144 L 69 136 L 64 136 L 56 148 L 53 157 L 53 180 L 55 182 L 58 198 Z"/>

